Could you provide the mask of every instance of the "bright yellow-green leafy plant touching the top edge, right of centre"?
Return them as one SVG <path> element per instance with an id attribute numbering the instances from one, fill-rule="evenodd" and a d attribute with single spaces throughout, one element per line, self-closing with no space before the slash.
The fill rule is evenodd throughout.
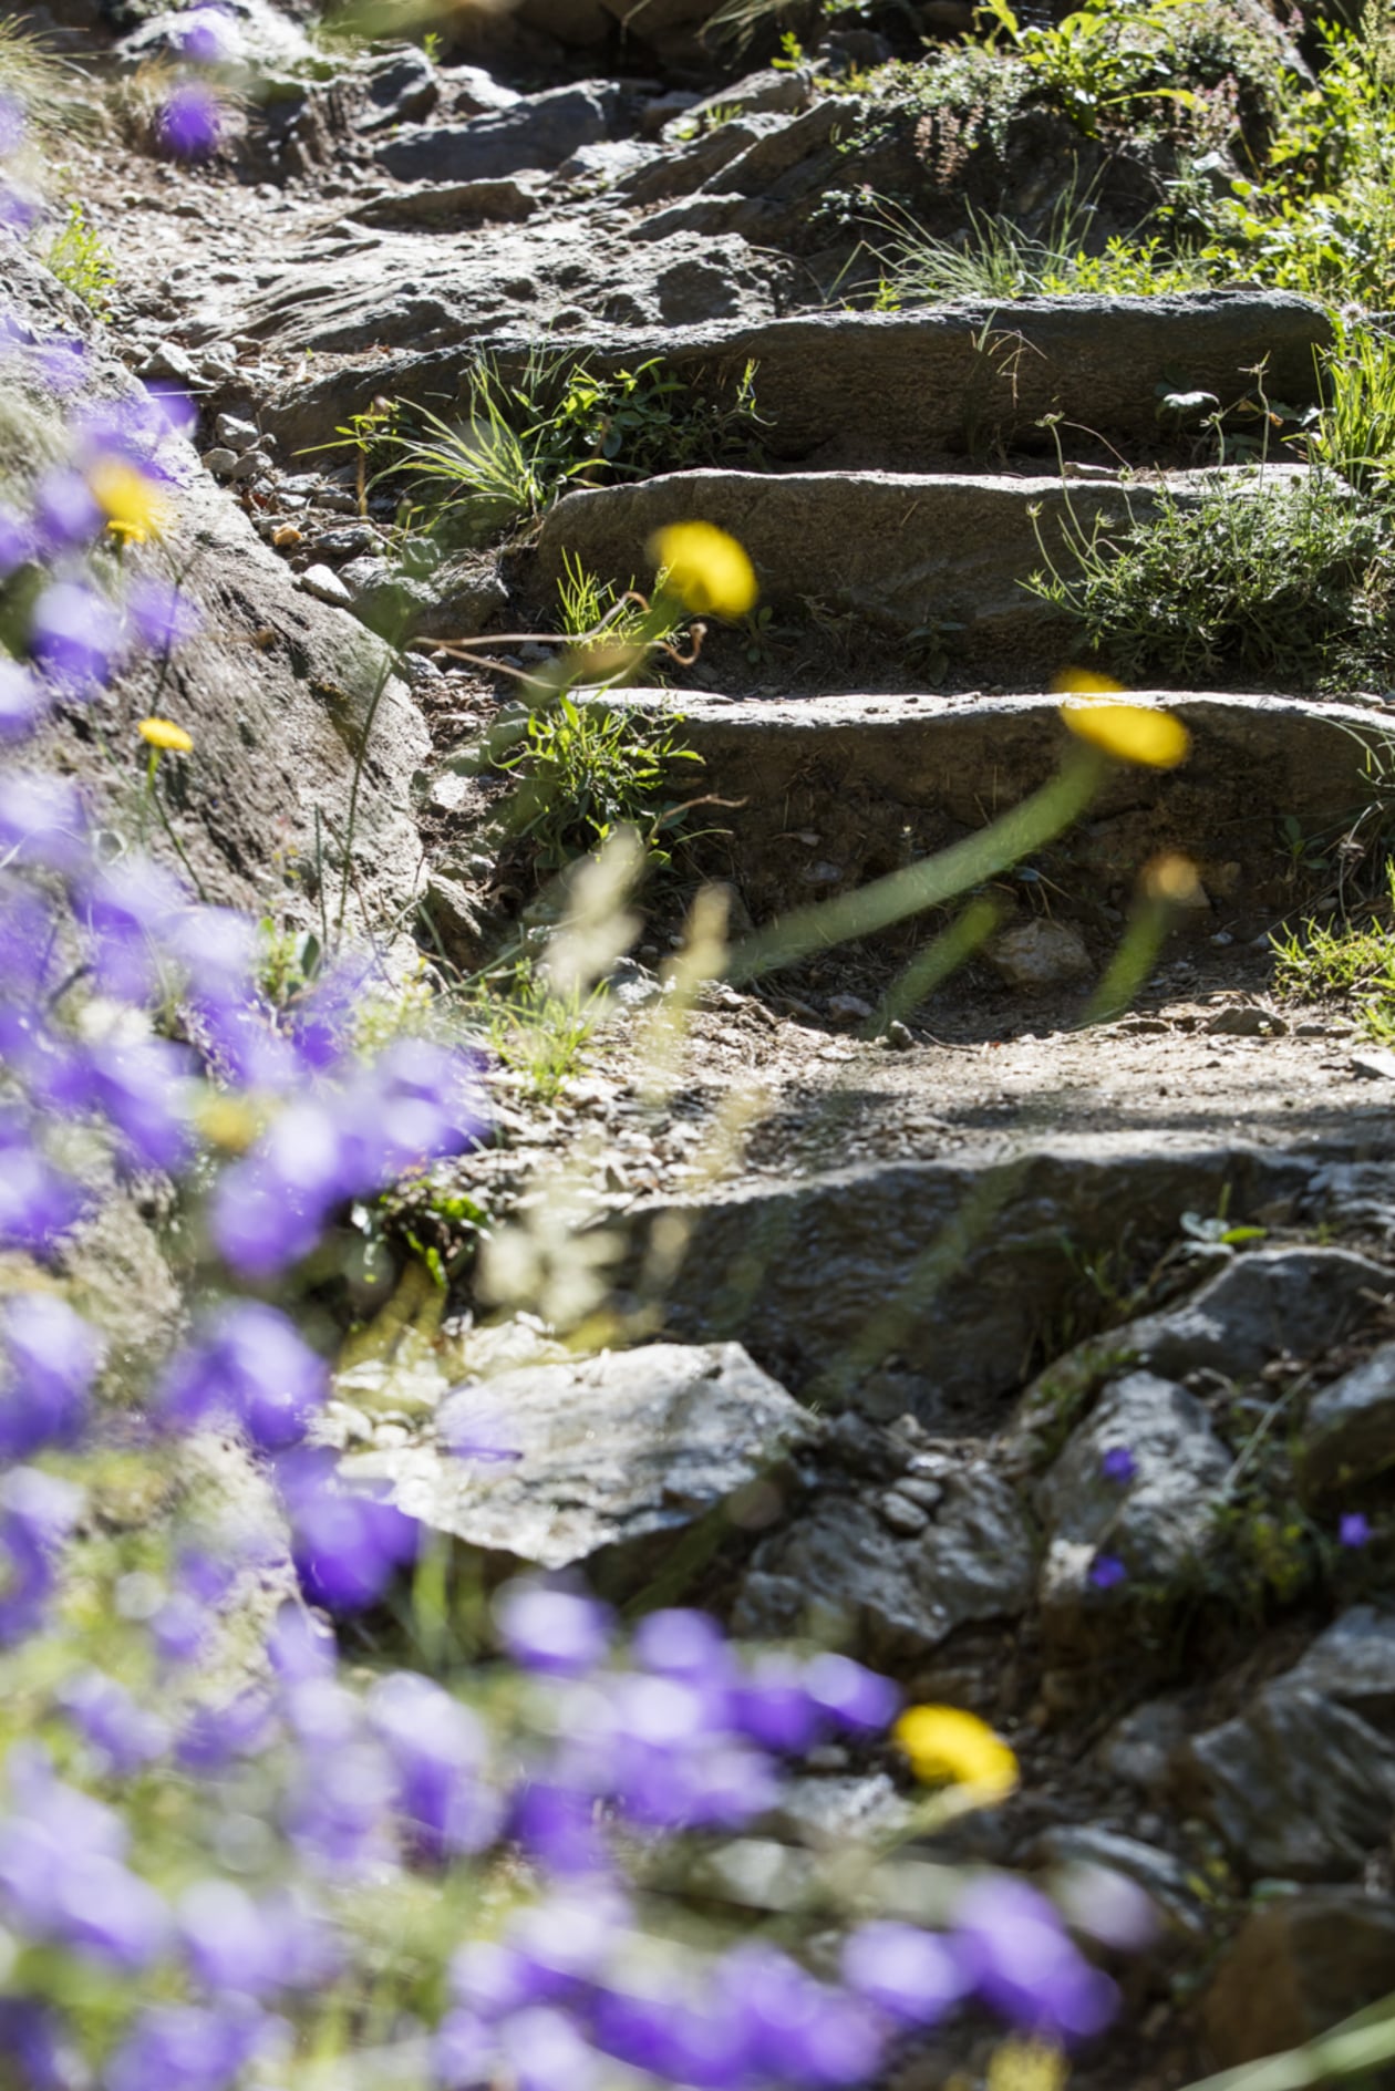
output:
<path id="1" fill-rule="evenodd" d="M 1169 15 L 1194 0 L 1094 0 L 1052 29 L 1023 27 L 1008 0 L 985 0 L 981 17 L 1006 36 L 1044 96 L 1085 138 L 1100 136 L 1100 117 L 1138 100 L 1194 107 L 1190 88 L 1159 84 L 1159 52 L 1169 48 Z"/>

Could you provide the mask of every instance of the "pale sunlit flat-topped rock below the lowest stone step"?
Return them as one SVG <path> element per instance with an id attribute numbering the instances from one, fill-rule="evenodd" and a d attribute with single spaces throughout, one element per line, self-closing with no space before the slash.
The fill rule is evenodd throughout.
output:
<path id="1" fill-rule="evenodd" d="M 514 1464 L 468 1466 L 418 1443 L 353 1455 L 345 1478 L 387 1483 L 399 1510 L 500 1564 L 586 1568 L 607 1589 L 634 1587 L 678 1535 L 719 1520 L 818 1434 L 734 1342 L 500 1372 L 487 1399 Z"/>

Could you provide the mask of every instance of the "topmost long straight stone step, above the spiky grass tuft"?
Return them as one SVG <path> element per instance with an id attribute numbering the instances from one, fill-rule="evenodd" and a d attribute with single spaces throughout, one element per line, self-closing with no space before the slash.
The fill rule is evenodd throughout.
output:
<path id="1" fill-rule="evenodd" d="M 665 243 L 665 261 L 667 261 Z M 379 266 L 383 257 L 376 257 Z M 393 253 L 395 276 L 420 278 L 420 257 Z M 356 268 L 366 263 L 356 259 Z M 416 289 L 416 284 L 410 284 Z M 328 291 L 324 293 L 328 297 Z M 270 324 L 270 320 L 268 320 Z M 385 332 L 381 339 L 408 335 Z M 261 330 L 255 326 L 255 330 Z M 439 330 L 437 330 L 439 332 Z M 379 339 L 379 337 L 364 337 Z M 310 337 L 307 337 L 310 339 Z M 418 337 L 420 339 L 420 332 Z M 299 337 L 289 337 L 301 345 Z M 776 460 L 916 470 L 945 456 L 987 458 L 1000 445 L 1052 452 L 1044 414 L 1111 441 L 1159 443 L 1159 387 L 1211 391 L 1221 406 L 1263 385 L 1272 399 L 1318 401 L 1316 351 L 1332 341 L 1318 305 L 1286 291 L 1192 291 L 1177 297 L 1037 297 L 918 312 L 814 312 L 703 326 L 598 326 L 542 347 L 594 370 L 634 370 L 653 355 L 699 393 L 724 399 L 755 362 L 761 441 Z M 353 349 L 351 332 L 314 345 Z M 282 443 L 324 441 L 347 414 L 389 389 L 450 412 L 479 355 L 521 366 L 538 332 L 456 326 L 429 353 L 402 353 L 385 385 L 381 355 L 280 391 L 268 427 Z M 1062 431 L 1067 450 L 1079 443 Z"/>

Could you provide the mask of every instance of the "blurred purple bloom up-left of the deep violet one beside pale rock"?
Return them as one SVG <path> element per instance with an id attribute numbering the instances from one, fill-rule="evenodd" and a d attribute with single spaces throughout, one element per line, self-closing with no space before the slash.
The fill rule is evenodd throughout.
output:
<path id="1" fill-rule="evenodd" d="M 211 1416 L 238 1424 L 259 1451 L 299 1445 L 324 1407 L 328 1370 L 276 1307 L 224 1307 L 180 1351 L 155 1395 L 161 1422 L 192 1430 Z"/>

